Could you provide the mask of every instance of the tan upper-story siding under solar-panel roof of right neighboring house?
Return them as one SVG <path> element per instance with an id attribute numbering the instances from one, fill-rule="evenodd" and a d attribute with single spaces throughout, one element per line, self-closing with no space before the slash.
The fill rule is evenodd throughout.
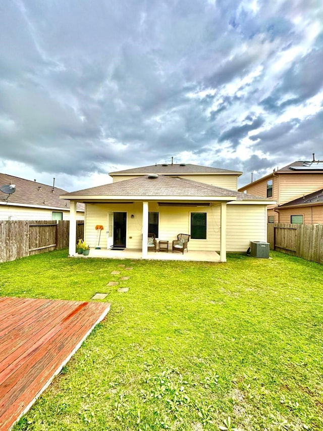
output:
<path id="1" fill-rule="evenodd" d="M 286 204 L 303 195 L 323 188 L 323 174 L 280 174 L 280 201 L 279 205 Z"/>

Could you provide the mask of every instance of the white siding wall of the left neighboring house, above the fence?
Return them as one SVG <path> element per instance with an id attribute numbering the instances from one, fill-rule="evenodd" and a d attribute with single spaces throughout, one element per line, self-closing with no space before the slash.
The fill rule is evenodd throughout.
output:
<path id="1" fill-rule="evenodd" d="M 0 220 L 51 220 L 51 213 L 62 212 L 63 220 L 70 219 L 70 210 L 63 209 L 41 209 L 28 207 L 14 207 L 9 205 L 0 205 Z M 77 212 L 77 220 L 83 220 L 84 213 Z"/>

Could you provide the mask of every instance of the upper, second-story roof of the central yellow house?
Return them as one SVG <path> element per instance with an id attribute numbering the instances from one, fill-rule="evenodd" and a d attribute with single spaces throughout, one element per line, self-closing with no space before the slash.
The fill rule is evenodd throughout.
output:
<path id="1" fill-rule="evenodd" d="M 183 175 L 183 174 L 238 174 L 240 171 L 231 171 L 229 169 L 212 168 L 208 166 L 191 165 L 186 163 L 180 164 L 159 164 L 151 166 L 143 166 L 141 168 L 126 169 L 124 171 L 110 172 L 109 175 L 146 175 L 149 173 L 157 173 L 161 175 Z"/>

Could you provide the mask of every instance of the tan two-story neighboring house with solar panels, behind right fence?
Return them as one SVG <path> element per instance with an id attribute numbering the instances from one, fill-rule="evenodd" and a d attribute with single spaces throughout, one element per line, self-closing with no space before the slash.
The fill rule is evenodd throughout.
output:
<path id="1" fill-rule="evenodd" d="M 300 213 L 300 209 L 293 206 L 289 211 L 280 211 L 287 204 L 298 198 L 303 198 L 304 195 L 317 193 L 316 190 L 323 188 L 323 161 L 297 161 L 291 163 L 277 171 L 274 170 L 250 184 L 240 187 L 238 190 L 251 193 L 264 198 L 273 199 L 277 205 L 271 205 L 267 210 L 267 221 L 269 223 L 300 223 L 299 215 L 303 215 L 303 223 L 317 223 L 317 219 L 322 220 L 323 206 L 315 206 L 315 217 L 307 217 L 304 213 Z M 306 205 L 309 210 L 309 205 Z M 296 211 L 297 210 L 297 211 Z M 296 212 L 295 212 L 296 211 Z M 319 214 L 318 214 L 319 213 Z M 307 214 L 307 213 L 306 213 Z M 296 217 L 297 216 L 297 217 Z M 283 218 L 281 218 L 283 217 Z"/>

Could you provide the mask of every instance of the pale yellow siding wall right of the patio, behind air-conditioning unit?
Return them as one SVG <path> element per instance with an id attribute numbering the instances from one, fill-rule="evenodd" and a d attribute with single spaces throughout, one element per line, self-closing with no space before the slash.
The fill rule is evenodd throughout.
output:
<path id="1" fill-rule="evenodd" d="M 227 251 L 246 252 L 250 241 L 267 241 L 265 205 L 227 205 Z"/>

